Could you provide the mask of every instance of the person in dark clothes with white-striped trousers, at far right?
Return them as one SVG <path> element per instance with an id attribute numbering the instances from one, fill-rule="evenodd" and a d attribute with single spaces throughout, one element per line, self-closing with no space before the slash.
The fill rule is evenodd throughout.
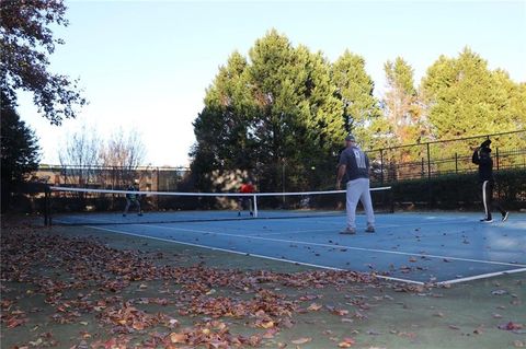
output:
<path id="1" fill-rule="evenodd" d="M 485 217 L 480 221 L 485 223 L 493 222 L 491 210 L 498 209 L 504 222 L 507 220 L 508 212 L 505 211 L 499 202 L 493 200 L 495 179 L 493 177 L 493 160 L 491 160 L 490 144 L 491 140 L 487 139 L 483 141 L 482 144 L 474 150 L 473 156 L 471 158 L 473 164 L 479 165 L 479 182 L 482 185 L 482 203 L 484 205 Z"/>

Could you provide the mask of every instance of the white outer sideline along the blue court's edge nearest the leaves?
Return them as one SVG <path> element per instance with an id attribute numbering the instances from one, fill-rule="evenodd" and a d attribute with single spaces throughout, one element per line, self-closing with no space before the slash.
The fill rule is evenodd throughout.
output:
<path id="1" fill-rule="evenodd" d="M 259 255 L 259 254 L 252 254 L 250 252 L 232 251 L 232 249 L 227 249 L 227 248 L 221 248 L 221 247 L 211 247 L 211 246 L 187 243 L 187 242 L 182 242 L 182 241 L 176 241 L 176 240 L 170 240 L 170 239 L 163 239 L 163 237 L 157 237 L 157 236 L 149 236 L 149 235 L 129 233 L 129 232 L 124 232 L 124 231 L 114 230 L 114 229 L 90 226 L 90 225 L 83 225 L 83 226 L 88 228 L 88 229 L 102 230 L 102 231 L 107 231 L 107 232 L 123 234 L 123 235 L 130 235 L 130 236 L 137 236 L 137 237 L 142 237 L 142 239 L 151 239 L 151 240 L 157 240 L 157 241 L 162 241 L 162 242 L 168 242 L 168 243 L 173 243 L 173 244 L 180 244 L 180 245 L 186 245 L 186 246 L 193 246 L 193 247 L 201 247 L 201 248 L 206 248 L 206 249 L 210 249 L 210 251 L 219 251 L 219 252 L 225 252 L 225 253 L 231 253 L 231 254 L 242 255 L 242 256 L 247 256 L 247 257 L 256 257 L 256 258 L 270 259 L 270 260 L 275 260 L 275 261 L 284 261 L 284 263 L 294 264 L 294 265 L 301 265 L 301 266 L 315 267 L 315 268 L 334 270 L 334 271 L 352 271 L 352 270 L 341 269 L 341 268 L 336 268 L 336 267 L 316 265 L 316 264 L 306 263 L 306 261 L 297 261 L 297 260 L 294 260 L 294 259 L 285 259 L 285 258 L 264 256 L 264 255 Z M 384 276 L 384 275 L 376 275 L 376 274 L 364 272 L 364 271 L 355 271 L 355 272 L 368 274 L 368 275 L 373 276 L 374 278 L 384 279 L 384 280 L 388 280 L 388 281 L 398 281 L 398 282 L 413 283 L 413 284 L 419 284 L 419 286 L 426 284 L 425 282 L 422 282 L 422 281 L 388 277 L 388 276 Z"/>

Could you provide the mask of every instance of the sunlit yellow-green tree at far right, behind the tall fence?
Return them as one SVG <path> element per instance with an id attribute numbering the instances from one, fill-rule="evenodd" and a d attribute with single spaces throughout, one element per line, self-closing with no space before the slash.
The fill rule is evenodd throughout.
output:
<path id="1" fill-rule="evenodd" d="M 524 128 L 524 89 L 506 72 L 490 70 L 488 62 L 466 47 L 457 58 L 441 56 L 422 80 L 426 116 L 436 139 L 513 131 Z M 506 140 L 507 139 L 507 140 Z M 472 147 L 479 140 L 472 141 Z M 502 139 L 501 147 L 524 143 L 519 136 Z M 466 154 L 466 144 L 455 142 L 441 155 Z"/>

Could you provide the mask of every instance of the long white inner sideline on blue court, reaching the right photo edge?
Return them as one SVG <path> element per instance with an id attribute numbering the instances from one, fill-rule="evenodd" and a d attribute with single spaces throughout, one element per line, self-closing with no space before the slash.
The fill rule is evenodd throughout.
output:
<path id="1" fill-rule="evenodd" d="M 310 246 L 319 246 L 319 247 L 347 248 L 347 249 L 354 249 L 354 251 L 376 252 L 376 253 L 385 253 L 385 254 L 402 255 L 402 256 L 416 256 L 416 257 L 428 257 L 428 258 L 436 258 L 436 259 L 450 259 L 450 260 L 460 260 L 460 261 L 480 263 L 480 264 L 490 264 L 490 265 L 526 267 L 526 265 L 518 264 L 518 263 L 515 264 L 515 263 L 505 263 L 505 261 L 481 260 L 481 259 L 471 259 L 471 258 L 461 258 L 461 257 L 451 257 L 451 256 L 428 255 L 428 254 L 421 254 L 421 253 L 409 253 L 409 252 L 400 252 L 400 251 L 356 247 L 356 246 L 347 246 L 347 245 L 329 245 L 329 244 L 309 243 L 309 242 L 302 242 L 302 241 L 296 241 L 296 240 L 268 239 L 268 237 L 263 237 L 263 236 L 218 233 L 218 232 L 204 231 L 204 230 L 193 230 L 193 229 L 174 228 L 174 226 L 162 226 L 162 225 L 155 225 L 155 224 L 129 224 L 129 225 L 152 226 L 152 228 L 158 228 L 158 229 L 175 230 L 175 231 L 182 231 L 182 232 L 201 233 L 201 234 L 215 234 L 215 235 L 220 235 L 220 236 L 231 236 L 231 237 L 242 237 L 242 239 L 254 239 L 254 240 L 263 240 L 263 241 L 270 241 L 270 242 L 283 242 L 283 243 L 288 243 L 288 244 L 300 244 L 300 245 L 310 245 Z"/>

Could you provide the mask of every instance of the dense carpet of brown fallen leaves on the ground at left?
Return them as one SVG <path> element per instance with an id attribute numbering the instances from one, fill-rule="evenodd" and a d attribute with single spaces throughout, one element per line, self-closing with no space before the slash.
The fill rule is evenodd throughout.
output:
<path id="1" fill-rule="evenodd" d="M 202 264 L 161 265 L 159 256 L 153 254 L 111 248 L 95 239 L 67 239 L 32 228 L 4 230 L 1 245 L 2 282 L 24 282 L 28 286 L 28 293 L 43 294 L 45 302 L 54 307 L 50 321 L 56 324 L 82 324 L 82 315 L 95 315 L 110 337 L 93 340 L 90 334 L 84 334 L 73 348 L 126 348 L 137 338 L 141 340 L 140 347 L 146 348 L 258 347 L 283 328 L 293 327 L 295 314 L 321 309 L 316 303 L 301 306 L 302 302 L 316 296 L 288 299 L 273 290 L 378 282 L 373 276 L 352 271 L 284 274 L 217 269 Z M 168 298 L 125 299 L 122 295 L 128 288 L 148 288 L 148 281 L 170 284 L 172 291 L 167 293 Z M 216 295 L 216 289 L 230 292 Z M 1 322 L 8 328 L 27 322 L 28 314 L 15 303 L 15 300 L 5 298 L 1 301 Z M 160 312 L 148 314 L 140 310 L 141 304 L 169 306 L 176 310 L 179 316 L 198 316 L 199 319 L 191 327 L 181 328 L 178 318 Z M 362 304 L 356 305 L 366 310 Z M 328 310 L 339 316 L 348 314 L 343 310 Z M 361 313 L 353 316 L 365 317 Z M 253 335 L 232 334 L 229 319 L 242 319 Z M 50 338 L 38 340 L 38 346 L 43 342 L 56 345 Z M 352 344 L 353 339 L 347 338 L 340 342 L 340 347 L 351 347 Z M 275 346 L 285 347 L 279 342 Z"/>

